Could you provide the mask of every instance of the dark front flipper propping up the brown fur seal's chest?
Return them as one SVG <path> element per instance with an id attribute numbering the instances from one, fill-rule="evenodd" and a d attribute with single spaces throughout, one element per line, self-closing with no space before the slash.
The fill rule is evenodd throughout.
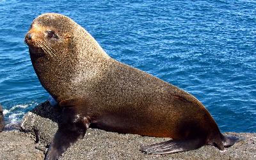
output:
<path id="1" fill-rule="evenodd" d="M 58 131 L 51 141 L 48 149 L 47 160 L 58 159 L 68 147 L 83 138 L 90 125 L 89 118 L 79 117 L 74 108 L 63 108 L 61 123 Z"/>

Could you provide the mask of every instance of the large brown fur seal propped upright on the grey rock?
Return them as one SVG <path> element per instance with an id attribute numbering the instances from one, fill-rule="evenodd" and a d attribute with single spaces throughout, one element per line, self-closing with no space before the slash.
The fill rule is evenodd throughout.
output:
<path id="1" fill-rule="evenodd" d="M 223 136 L 195 97 L 146 72 L 113 60 L 94 38 L 57 13 L 37 17 L 25 38 L 36 75 L 63 108 L 46 159 L 57 159 L 88 127 L 169 137 L 141 148 L 170 154 L 214 145 L 220 150 L 239 138 Z"/>

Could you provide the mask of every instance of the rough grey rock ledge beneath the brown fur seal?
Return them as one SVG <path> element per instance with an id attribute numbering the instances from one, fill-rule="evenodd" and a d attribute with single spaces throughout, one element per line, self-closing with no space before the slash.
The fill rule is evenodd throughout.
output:
<path id="1" fill-rule="evenodd" d="M 23 118 L 20 130 L 0 132 L 0 159 L 44 159 L 52 136 L 58 129 L 60 111 L 44 102 Z M 89 129 L 61 159 L 256 159 L 256 133 L 227 132 L 244 140 L 220 151 L 212 146 L 168 155 L 148 155 L 140 147 L 166 141 L 134 134 Z"/>

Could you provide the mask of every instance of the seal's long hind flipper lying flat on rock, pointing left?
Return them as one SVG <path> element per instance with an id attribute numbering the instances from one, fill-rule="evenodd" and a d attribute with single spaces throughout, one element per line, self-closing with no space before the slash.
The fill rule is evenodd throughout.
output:
<path id="1" fill-rule="evenodd" d="M 195 150 L 203 145 L 204 140 L 200 138 L 189 140 L 170 140 L 141 147 L 140 151 L 144 152 L 145 154 L 173 154 L 186 150 Z"/>

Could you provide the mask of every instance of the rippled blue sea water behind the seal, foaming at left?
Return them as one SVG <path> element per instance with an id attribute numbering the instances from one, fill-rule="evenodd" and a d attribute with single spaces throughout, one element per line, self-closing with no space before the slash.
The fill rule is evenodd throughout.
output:
<path id="1" fill-rule="evenodd" d="M 48 93 L 24 35 L 46 12 L 86 28 L 116 60 L 195 95 L 221 131 L 256 132 L 256 1 L 0 0 L 0 103 L 8 124 Z"/>

